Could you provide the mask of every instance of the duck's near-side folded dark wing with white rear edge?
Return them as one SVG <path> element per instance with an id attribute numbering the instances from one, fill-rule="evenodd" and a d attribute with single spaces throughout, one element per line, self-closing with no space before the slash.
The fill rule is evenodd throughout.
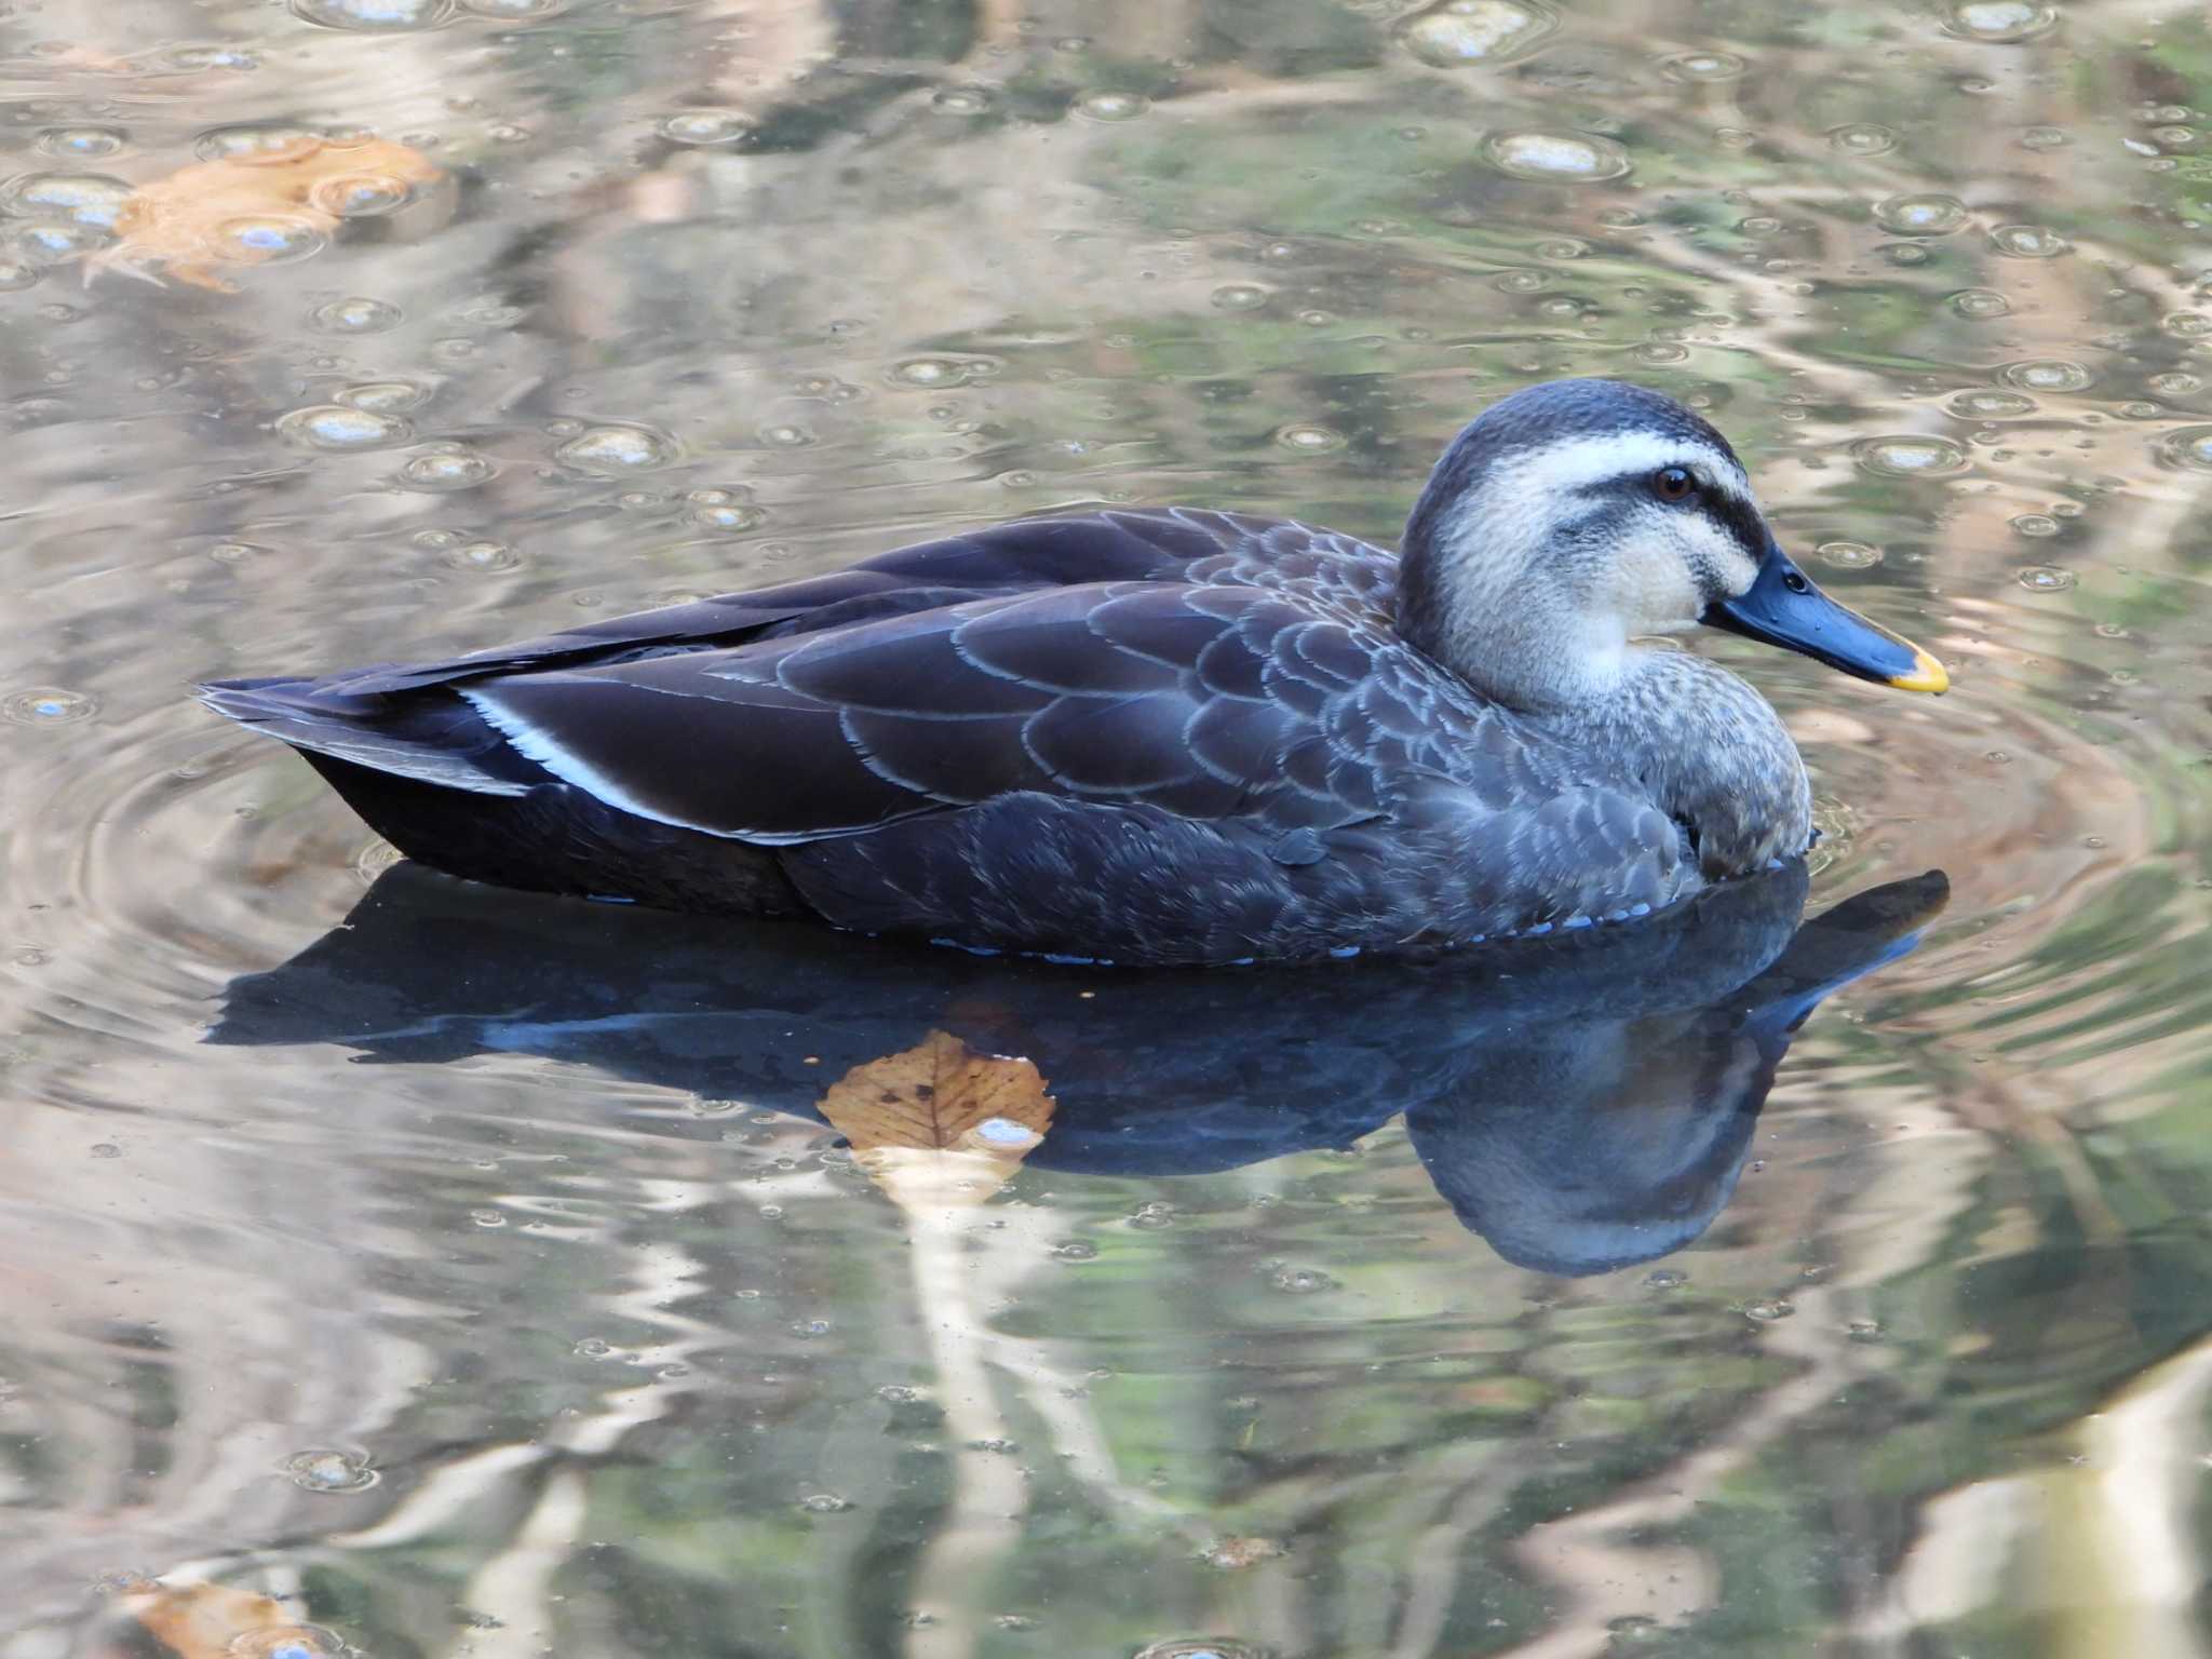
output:
<path id="1" fill-rule="evenodd" d="M 739 841 L 1018 792 L 1287 834 L 1376 816 L 1383 774 L 1444 739 L 1398 703 L 1405 730 L 1378 723 L 1378 659 L 1402 653 L 1267 588 L 1108 582 L 460 695 L 595 799 Z"/>

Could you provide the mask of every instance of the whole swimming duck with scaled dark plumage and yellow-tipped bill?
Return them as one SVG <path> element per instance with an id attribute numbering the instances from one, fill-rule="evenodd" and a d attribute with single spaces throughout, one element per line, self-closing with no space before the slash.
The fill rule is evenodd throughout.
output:
<path id="1" fill-rule="evenodd" d="M 511 646 L 219 679 L 400 854 L 504 887 L 978 953 L 1314 962 L 1624 925 L 1814 841 L 1714 626 L 1942 692 L 1825 595 L 1697 411 L 1489 405 L 1396 553 L 1091 511 Z"/>

